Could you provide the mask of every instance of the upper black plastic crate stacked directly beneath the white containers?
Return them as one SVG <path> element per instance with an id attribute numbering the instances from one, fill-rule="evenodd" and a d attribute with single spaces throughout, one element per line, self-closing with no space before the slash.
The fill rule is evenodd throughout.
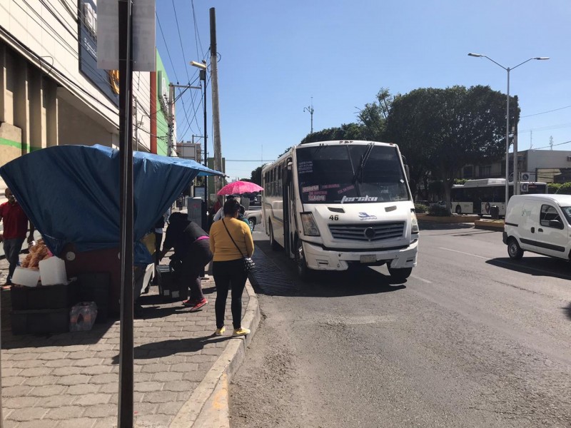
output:
<path id="1" fill-rule="evenodd" d="M 77 282 L 69 284 L 21 287 L 10 290 L 12 310 L 62 309 L 73 306 L 77 299 Z"/>

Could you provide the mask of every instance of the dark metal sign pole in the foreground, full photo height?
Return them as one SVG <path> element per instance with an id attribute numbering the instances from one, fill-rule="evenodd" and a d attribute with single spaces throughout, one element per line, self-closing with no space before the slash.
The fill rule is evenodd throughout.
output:
<path id="1" fill-rule="evenodd" d="M 133 427 L 133 15 L 131 0 L 118 1 L 119 160 L 121 184 L 121 332 L 118 427 Z"/>

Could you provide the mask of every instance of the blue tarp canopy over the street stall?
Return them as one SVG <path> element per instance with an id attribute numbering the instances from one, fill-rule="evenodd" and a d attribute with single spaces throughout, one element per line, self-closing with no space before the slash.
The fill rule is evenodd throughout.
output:
<path id="1" fill-rule="evenodd" d="M 54 146 L 14 159 L 0 176 L 26 215 L 59 255 L 120 243 L 119 151 L 100 146 Z M 195 161 L 133 152 L 133 225 L 136 264 L 153 263 L 139 243 L 197 175 L 223 175 Z"/>

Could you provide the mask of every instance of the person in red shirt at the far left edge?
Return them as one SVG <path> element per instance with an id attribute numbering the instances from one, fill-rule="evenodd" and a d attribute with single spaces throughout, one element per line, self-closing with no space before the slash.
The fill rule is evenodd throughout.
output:
<path id="1" fill-rule="evenodd" d="M 16 201 L 14 193 L 9 188 L 6 188 L 4 195 L 8 202 L 0 205 L 0 220 L 4 223 L 4 232 L 0 235 L 0 242 L 4 243 L 4 256 L 9 263 L 6 285 L 11 285 L 14 270 L 20 263 L 20 251 L 26 239 L 28 223 L 30 225 L 29 245 L 34 240 L 34 225 L 28 220 L 28 216 L 24 213 L 20 204 Z"/>

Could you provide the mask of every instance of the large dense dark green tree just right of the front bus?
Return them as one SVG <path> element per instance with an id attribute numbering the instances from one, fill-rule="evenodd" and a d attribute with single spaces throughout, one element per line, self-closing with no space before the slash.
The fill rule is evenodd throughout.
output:
<path id="1" fill-rule="evenodd" d="M 515 96 L 510 123 L 519 118 Z M 428 172 L 441 178 L 448 206 L 460 168 L 505 156 L 505 95 L 489 86 L 415 89 L 395 98 L 386 125 L 408 159 L 411 181 Z"/>

